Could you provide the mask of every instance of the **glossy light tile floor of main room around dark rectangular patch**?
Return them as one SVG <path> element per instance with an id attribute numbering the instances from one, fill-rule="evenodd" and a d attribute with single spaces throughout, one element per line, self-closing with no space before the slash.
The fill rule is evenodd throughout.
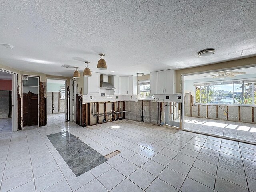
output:
<path id="1" fill-rule="evenodd" d="M 48 140 L 69 131 L 106 155 L 76 177 Z M 82 128 L 48 115 L 48 125 L 0 133 L 1 192 L 256 192 L 256 146 L 120 120 Z"/>

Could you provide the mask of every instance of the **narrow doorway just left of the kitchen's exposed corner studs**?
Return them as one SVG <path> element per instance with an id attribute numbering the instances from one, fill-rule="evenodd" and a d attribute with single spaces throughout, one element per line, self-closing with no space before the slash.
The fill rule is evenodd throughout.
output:
<path id="1" fill-rule="evenodd" d="M 70 80 L 70 121 L 76 122 L 76 79 Z"/>

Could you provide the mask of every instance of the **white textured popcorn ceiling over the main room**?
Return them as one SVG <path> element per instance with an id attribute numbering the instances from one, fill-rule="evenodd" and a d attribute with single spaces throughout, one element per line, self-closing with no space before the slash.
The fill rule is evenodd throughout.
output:
<path id="1" fill-rule="evenodd" d="M 74 68 L 149 74 L 256 55 L 255 0 L 1 0 L 1 64 L 72 76 Z M 199 58 L 197 52 L 216 53 Z M 108 70 L 97 70 L 98 53 Z M 110 71 L 115 71 L 110 73 Z"/>

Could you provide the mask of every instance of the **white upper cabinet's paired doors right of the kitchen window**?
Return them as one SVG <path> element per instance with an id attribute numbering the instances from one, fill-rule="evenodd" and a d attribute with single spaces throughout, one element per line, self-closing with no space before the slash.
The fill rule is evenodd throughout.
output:
<path id="1" fill-rule="evenodd" d="M 157 94 L 176 94 L 175 70 L 157 72 Z"/>

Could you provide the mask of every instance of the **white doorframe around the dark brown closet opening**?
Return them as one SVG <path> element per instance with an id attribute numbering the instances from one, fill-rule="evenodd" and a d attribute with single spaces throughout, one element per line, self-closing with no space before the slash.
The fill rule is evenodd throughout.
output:
<path id="1" fill-rule="evenodd" d="M 41 81 L 41 76 L 38 75 L 26 75 L 26 74 L 20 74 L 20 84 L 21 84 L 21 129 L 23 129 L 23 76 L 26 77 L 36 77 L 38 78 L 38 114 L 37 114 L 37 126 L 39 127 L 40 123 L 40 81 Z"/>

